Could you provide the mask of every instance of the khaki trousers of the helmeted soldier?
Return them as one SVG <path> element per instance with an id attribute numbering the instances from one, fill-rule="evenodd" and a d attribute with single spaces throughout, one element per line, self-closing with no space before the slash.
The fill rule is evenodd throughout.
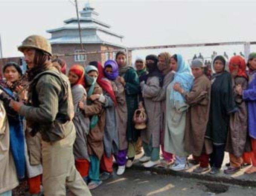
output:
<path id="1" fill-rule="evenodd" d="M 90 196 L 90 190 L 75 168 L 73 144 L 75 127 L 64 139 L 42 142 L 43 188 L 45 196 L 66 196 L 66 186 L 74 195 Z"/>

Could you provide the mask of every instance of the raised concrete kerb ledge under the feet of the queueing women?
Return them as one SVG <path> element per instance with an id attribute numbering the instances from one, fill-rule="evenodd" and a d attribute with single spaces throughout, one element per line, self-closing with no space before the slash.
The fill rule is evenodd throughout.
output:
<path id="1" fill-rule="evenodd" d="M 144 168 L 141 163 L 136 160 L 136 163 L 132 166 L 131 169 L 136 170 L 143 170 L 143 171 L 151 171 L 156 172 L 157 174 L 162 175 L 172 175 L 172 176 L 179 176 L 184 178 L 196 178 L 198 180 L 205 180 L 211 182 L 218 182 L 218 183 L 228 183 L 233 185 L 239 186 L 246 186 L 246 187 L 256 187 L 256 174 L 244 174 L 244 171 L 250 167 L 242 168 L 240 171 L 236 172 L 235 174 L 224 174 L 223 168 L 221 172 L 217 175 L 209 174 L 209 171 L 204 172 L 202 174 L 197 174 L 192 172 L 193 169 L 197 167 L 194 165 L 190 165 L 190 168 L 186 171 L 175 172 L 169 168 L 163 167 L 153 167 L 153 168 Z"/>

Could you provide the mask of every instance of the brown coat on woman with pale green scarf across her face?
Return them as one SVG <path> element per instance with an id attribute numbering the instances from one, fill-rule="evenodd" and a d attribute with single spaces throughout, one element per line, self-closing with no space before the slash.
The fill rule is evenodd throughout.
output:
<path id="1" fill-rule="evenodd" d="M 86 89 L 88 93 L 89 88 Z M 102 88 L 96 83 L 94 87 L 93 94 L 102 94 Z M 87 98 L 89 99 L 89 97 Z M 103 136 L 104 136 L 104 126 L 105 126 L 105 110 L 102 107 L 102 103 L 95 100 L 91 105 L 84 106 L 85 115 L 92 117 L 93 115 L 98 115 L 98 123 L 87 136 L 87 146 L 88 154 L 95 155 L 98 159 L 101 159 L 103 155 Z"/>

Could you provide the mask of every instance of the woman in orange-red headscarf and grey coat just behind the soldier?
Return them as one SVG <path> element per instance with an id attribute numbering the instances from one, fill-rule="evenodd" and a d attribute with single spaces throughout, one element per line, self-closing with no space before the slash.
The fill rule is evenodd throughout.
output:
<path id="1" fill-rule="evenodd" d="M 87 135 L 90 130 L 90 119 L 85 116 L 84 112 L 82 112 L 78 106 L 80 101 L 85 102 L 87 98 L 87 93 L 84 88 L 84 67 L 79 64 L 71 66 L 68 77 L 71 85 L 75 112 L 73 118 L 73 123 L 76 128 L 76 140 L 73 145 L 75 166 L 84 181 L 87 182 L 90 166 L 90 158 L 87 149 Z"/>

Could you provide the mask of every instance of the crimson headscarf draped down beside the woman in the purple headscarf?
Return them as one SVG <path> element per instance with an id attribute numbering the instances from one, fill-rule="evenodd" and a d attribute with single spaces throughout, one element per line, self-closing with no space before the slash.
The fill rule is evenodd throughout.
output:
<path id="1" fill-rule="evenodd" d="M 110 95 L 111 99 L 113 100 L 114 104 L 116 105 L 117 104 L 116 96 L 114 94 L 111 82 L 108 81 L 108 80 L 103 79 L 103 78 L 105 78 L 105 76 L 104 76 L 104 70 L 103 70 L 103 67 L 101 66 L 101 63 L 97 62 L 97 66 L 98 66 L 97 68 L 98 68 L 98 71 L 99 71 L 99 75 L 98 75 L 98 78 L 97 78 L 97 83 L 101 86 L 101 88 L 103 90 L 107 91 L 107 93 Z"/>

